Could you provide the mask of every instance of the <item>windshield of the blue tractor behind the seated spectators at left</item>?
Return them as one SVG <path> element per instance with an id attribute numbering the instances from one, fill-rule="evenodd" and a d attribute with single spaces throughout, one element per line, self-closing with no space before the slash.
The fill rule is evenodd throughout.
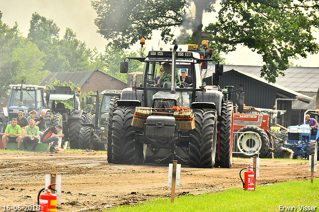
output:
<path id="1" fill-rule="evenodd" d="M 35 101 L 35 91 L 26 91 L 26 90 L 11 90 L 10 106 L 17 106 L 18 102 L 21 102 L 23 106 L 28 106 L 29 108 L 36 107 Z"/>

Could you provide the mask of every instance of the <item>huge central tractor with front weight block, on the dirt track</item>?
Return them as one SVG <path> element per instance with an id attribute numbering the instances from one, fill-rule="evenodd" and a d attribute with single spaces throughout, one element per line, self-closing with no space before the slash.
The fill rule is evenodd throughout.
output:
<path id="1" fill-rule="evenodd" d="M 223 65 L 207 58 L 212 50 L 206 52 L 206 46 L 205 52 L 200 53 L 192 51 L 189 45 L 162 45 L 146 57 L 127 57 L 121 62 L 121 73 L 128 72 L 130 60 L 144 63 L 144 73 L 142 83 L 124 89 L 121 100 L 116 101 L 109 162 L 177 160 L 190 167 L 231 167 L 233 104 L 224 99 L 218 85 Z M 171 74 L 167 72 L 161 87 L 155 79 L 167 63 Z M 215 68 L 210 90 L 202 82 L 208 63 L 209 68 Z M 182 69 L 188 70 L 191 85 L 176 84 L 175 76 Z"/>

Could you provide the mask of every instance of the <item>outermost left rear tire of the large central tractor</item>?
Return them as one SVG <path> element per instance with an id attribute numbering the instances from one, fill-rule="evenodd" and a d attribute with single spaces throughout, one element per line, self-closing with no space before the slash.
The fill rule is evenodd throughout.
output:
<path id="1" fill-rule="evenodd" d="M 110 100 L 109 105 L 109 117 L 108 117 L 108 136 L 107 136 L 107 154 L 108 154 L 108 162 L 113 163 L 112 159 L 112 125 L 113 125 L 113 111 L 114 108 L 118 106 L 117 100 L 119 100 L 119 97 L 112 97 Z"/>

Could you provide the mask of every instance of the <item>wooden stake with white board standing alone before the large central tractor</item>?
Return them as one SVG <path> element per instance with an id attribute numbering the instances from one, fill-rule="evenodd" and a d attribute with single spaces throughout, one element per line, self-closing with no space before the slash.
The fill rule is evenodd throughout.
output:
<path id="1" fill-rule="evenodd" d="M 177 164 L 177 160 L 173 160 L 173 163 L 168 164 L 168 183 L 167 187 L 171 187 L 170 202 L 174 202 L 175 188 L 179 187 L 180 178 L 180 164 Z"/>

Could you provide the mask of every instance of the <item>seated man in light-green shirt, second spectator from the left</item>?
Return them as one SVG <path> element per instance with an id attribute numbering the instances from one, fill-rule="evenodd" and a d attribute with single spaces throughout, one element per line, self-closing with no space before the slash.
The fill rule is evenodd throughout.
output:
<path id="1" fill-rule="evenodd" d="M 24 151 L 28 151 L 27 144 L 33 143 L 33 147 L 31 151 L 35 150 L 36 145 L 39 143 L 40 135 L 39 135 L 39 127 L 34 125 L 34 120 L 29 120 L 29 125 L 25 127 L 25 134 L 22 138 L 22 143 L 24 146 Z"/>

